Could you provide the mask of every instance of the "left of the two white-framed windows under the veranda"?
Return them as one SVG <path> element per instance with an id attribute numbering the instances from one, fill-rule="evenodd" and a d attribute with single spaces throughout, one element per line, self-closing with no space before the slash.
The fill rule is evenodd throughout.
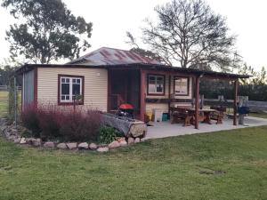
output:
<path id="1" fill-rule="evenodd" d="M 165 76 L 149 75 L 148 94 L 164 95 L 164 93 L 165 93 Z"/>

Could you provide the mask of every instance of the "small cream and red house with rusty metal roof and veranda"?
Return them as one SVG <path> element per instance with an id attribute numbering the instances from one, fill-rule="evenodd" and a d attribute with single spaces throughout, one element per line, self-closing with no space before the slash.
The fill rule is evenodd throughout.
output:
<path id="1" fill-rule="evenodd" d="M 169 113 L 174 105 L 188 106 L 193 99 L 198 102 L 200 78 L 232 81 L 237 104 L 239 78 L 249 77 L 166 66 L 134 52 L 106 47 L 67 64 L 25 64 L 17 73 L 23 77 L 22 109 L 45 103 L 69 107 L 78 95 L 77 107 L 102 112 L 132 104 L 135 117 L 142 121 L 154 108 Z M 198 103 L 195 105 L 197 111 Z M 198 128 L 198 120 L 195 125 Z"/>

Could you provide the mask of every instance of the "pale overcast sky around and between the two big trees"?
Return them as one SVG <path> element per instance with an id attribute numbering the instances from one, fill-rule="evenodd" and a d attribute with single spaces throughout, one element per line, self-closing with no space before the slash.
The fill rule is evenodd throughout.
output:
<path id="1" fill-rule="evenodd" d="M 63 0 L 75 14 L 93 22 L 90 39 L 91 52 L 101 46 L 129 49 L 125 44 L 126 31 L 141 35 L 140 28 L 145 18 L 154 19 L 154 7 L 169 0 Z M 266 0 L 207 0 L 214 12 L 227 17 L 231 33 L 238 36 L 239 54 L 247 64 L 259 70 L 267 67 L 267 1 Z M 9 44 L 4 40 L 5 30 L 12 17 L 0 8 L 0 62 L 9 56 Z"/>

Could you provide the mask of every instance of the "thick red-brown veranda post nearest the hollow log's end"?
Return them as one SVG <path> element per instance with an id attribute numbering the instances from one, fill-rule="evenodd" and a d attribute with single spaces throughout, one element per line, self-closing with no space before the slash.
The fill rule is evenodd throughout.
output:
<path id="1" fill-rule="evenodd" d="M 140 70 L 140 120 L 144 122 L 144 115 L 146 109 L 146 102 L 145 102 L 145 81 L 146 81 L 146 74 L 141 69 Z"/>

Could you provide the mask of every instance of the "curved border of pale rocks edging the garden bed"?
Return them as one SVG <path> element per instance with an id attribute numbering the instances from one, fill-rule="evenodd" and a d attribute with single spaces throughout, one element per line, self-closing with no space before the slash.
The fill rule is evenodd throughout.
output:
<path id="1" fill-rule="evenodd" d="M 140 138 L 117 138 L 109 144 L 96 144 L 87 142 L 54 142 L 54 141 L 42 141 L 38 138 L 25 138 L 20 136 L 20 132 L 26 131 L 27 129 L 14 124 L 8 125 L 7 119 L 0 118 L 0 133 L 8 141 L 12 141 L 15 144 L 21 146 L 34 147 L 34 148 L 45 148 L 45 149 L 63 149 L 63 150 L 91 150 L 96 152 L 108 152 L 109 149 L 122 148 L 134 145 L 139 142 L 143 142 L 144 139 Z"/>

